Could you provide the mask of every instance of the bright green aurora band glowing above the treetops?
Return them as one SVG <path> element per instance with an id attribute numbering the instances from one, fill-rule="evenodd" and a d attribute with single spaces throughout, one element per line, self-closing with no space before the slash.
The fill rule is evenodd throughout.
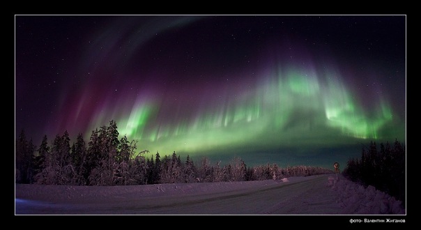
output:
<path id="1" fill-rule="evenodd" d="M 177 104 L 178 109 L 191 112 L 174 112 L 171 119 L 162 119 L 162 98 L 139 95 L 132 105 L 121 103 L 112 116 L 105 116 L 109 111 L 95 116 L 91 130 L 107 125 L 107 118 L 114 117 L 121 136 L 138 140 L 138 148 L 165 155 L 173 151 L 194 155 L 229 148 L 262 151 L 403 139 L 404 130 L 391 128 L 397 118 L 386 100 L 375 98 L 376 107 L 366 111 L 342 84 L 339 74 L 326 73 L 320 78 L 314 71 L 278 68 L 266 73 L 255 89 L 235 97 L 227 95 L 223 102 L 210 100 L 201 109 Z"/>

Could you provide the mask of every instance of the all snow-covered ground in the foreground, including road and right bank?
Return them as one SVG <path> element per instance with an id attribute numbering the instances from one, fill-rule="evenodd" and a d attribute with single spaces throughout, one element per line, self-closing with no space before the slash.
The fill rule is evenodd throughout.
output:
<path id="1" fill-rule="evenodd" d="M 15 185 L 16 215 L 406 215 L 342 176 L 132 186 Z"/>

